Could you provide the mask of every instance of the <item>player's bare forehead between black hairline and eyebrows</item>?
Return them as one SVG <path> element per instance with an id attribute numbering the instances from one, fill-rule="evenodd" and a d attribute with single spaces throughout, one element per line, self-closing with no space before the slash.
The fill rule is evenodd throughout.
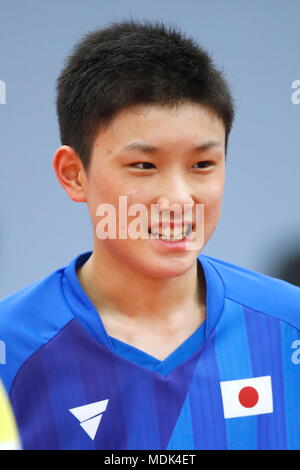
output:
<path id="1" fill-rule="evenodd" d="M 201 144 L 207 139 L 225 144 L 223 121 L 199 104 L 176 107 L 138 105 L 122 110 L 109 126 L 100 130 L 95 145 L 124 147 L 139 140 L 149 145 Z"/>

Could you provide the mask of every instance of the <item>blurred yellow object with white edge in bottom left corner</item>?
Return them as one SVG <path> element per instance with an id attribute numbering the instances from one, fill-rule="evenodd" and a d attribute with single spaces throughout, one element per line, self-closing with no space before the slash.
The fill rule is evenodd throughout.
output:
<path id="1" fill-rule="evenodd" d="M 0 383 L 0 450 L 20 450 L 15 419 L 5 389 Z"/>

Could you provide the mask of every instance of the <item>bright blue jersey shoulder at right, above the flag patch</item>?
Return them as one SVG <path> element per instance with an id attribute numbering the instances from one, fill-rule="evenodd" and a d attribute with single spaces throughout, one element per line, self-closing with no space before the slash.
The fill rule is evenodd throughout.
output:
<path id="1" fill-rule="evenodd" d="M 218 273 L 226 298 L 300 329 L 299 287 L 210 256 L 201 257 Z"/>

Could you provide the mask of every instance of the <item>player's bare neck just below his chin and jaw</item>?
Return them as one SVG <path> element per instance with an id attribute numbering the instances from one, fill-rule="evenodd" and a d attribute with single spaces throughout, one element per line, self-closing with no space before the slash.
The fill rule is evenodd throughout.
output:
<path id="1" fill-rule="evenodd" d="M 205 279 L 197 260 L 185 274 L 161 279 L 108 258 L 105 252 L 94 250 L 77 270 L 79 282 L 101 317 L 109 312 L 120 318 L 160 322 L 193 312 L 202 323 Z"/>

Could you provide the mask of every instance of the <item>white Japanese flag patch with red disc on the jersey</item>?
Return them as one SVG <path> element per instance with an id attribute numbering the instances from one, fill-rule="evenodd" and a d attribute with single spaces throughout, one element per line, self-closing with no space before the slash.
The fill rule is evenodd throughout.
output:
<path id="1" fill-rule="evenodd" d="M 224 418 L 273 413 L 271 376 L 220 382 Z"/>

